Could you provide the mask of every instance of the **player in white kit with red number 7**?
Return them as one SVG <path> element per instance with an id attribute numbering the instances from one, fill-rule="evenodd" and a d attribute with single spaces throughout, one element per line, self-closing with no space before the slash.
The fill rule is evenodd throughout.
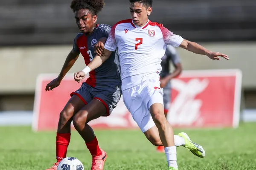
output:
<path id="1" fill-rule="evenodd" d="M 83 79 L 118 48 L 123 101 L 148 140 L 154 145 L 165 147 L 168 169 L 177 170 L 175 143 L 179 139 L 176 141 L 172 127 L 164 115 L 163 90 L 159 81 L 161 57 L 166 51 L 166 45 L 179 46 L 210 59 L 229 58 L 225 54 L 209 51 L 195 42 L 185 40 L 162 24 L 148 20 L 151 6 L 152 0 L 130 0 L 132 19 L 122 20 L 112 27 L 105 43 L 105 55 L 96 55 L 83 71 L 74 74 L 74 79 Z M 189 143 L 188 136 L 184 133 L 180 136 L 185 136 L 185 143 Z M 190 142 L 186 148 L 200 157 L 205 156 L 203 148 L 198 144 Z"/>

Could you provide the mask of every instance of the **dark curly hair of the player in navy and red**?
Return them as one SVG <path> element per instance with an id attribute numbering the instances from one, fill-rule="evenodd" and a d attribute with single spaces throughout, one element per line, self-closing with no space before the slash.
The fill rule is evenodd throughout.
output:
<path id="1" fill-rule="evenodd" d="M 79 11 L 80 9 L 88 9 L 90 14 L 96 15 L 102 10 L 104 5 L 104 0 L 72 0 L 70 8 L 73 12 Z"/>

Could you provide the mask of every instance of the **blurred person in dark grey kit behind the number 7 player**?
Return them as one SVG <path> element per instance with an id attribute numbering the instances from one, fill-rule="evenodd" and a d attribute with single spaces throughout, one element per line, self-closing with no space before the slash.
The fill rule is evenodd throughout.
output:
<path id="1" fill-rule="evenodd" d="M 160 73 L 160 87 L 163 88 L 163 107 L 165 116 L 167 116 L 171 104 L 171 79 L 180 75 L 182 71 L 182 65 L 180 62 L 180 57 L 172 45 L 167 45 L 166 52 L 161 59 L 162 71 Z M 170 62 L 172 62 L 175 67 L 175 70 L 172 73 L 170 73 Z M 165 152 L 163 146 L 157 146 L 157 151 L 161 153 Z"/>

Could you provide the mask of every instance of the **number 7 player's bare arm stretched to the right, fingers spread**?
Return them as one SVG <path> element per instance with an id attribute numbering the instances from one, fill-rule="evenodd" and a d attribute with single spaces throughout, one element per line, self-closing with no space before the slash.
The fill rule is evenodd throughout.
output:
<path id="1" fill-rule="evenodd" d="M 220 60 L 220 57 L 223 57 L 224 59 L 229 59 L 226 54 L 221 54 L 219 52 L 213 52 L 209 51 L 206 48 L 204 48 L 202 45 L 199 45 L 196 42 L 191 42 L 188 40 L 183 40 L 180 44 L 181 48 L 184 48 L 188 51 L 191 51 L 195 54 L 202 54 L 202 55 L 207 55 L 210 59 L 217 59 Z"/>

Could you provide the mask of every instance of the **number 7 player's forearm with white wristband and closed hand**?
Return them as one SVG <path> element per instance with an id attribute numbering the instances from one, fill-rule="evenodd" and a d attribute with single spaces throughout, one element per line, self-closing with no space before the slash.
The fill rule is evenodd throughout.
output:
<path id="1" fill-rule="evenodd" d="M 112 51 L 108 51 L 104 48 L 104 54 L 105 56 L 99 56 L 96 55 L 93 60 L 82 70 L 74 74 L 74 79 L 76 82 L 81 82 L 84 77 L 90 73 L 90 71 L 93 71 L 94 69 L 98 68 L 102 65 L 103 62 L 105 62 L 111 55 Z"/>

